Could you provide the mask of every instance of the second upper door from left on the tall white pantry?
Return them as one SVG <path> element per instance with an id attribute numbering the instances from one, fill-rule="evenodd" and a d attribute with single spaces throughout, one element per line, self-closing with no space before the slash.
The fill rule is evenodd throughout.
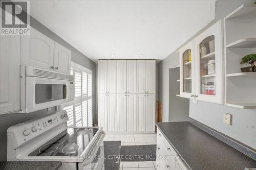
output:
<path id="1" fill-rule="evenodd" d="M 108 60 L 108 93 L 116 93 L 116 60 Z"/>

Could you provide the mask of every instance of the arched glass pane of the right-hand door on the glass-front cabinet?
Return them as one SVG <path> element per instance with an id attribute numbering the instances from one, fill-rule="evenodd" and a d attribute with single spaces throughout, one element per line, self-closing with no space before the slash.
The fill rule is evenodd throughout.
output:
<path id="1" fill-rule="evenodd" d="M 200 94 L 216 95 L 215 36 L 206 37 L 199 45 Z"/>

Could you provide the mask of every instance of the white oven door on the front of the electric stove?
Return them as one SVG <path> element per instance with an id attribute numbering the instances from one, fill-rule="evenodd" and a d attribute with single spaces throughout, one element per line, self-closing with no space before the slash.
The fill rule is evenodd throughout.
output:
<path id="1" fill-rule="evenodd" d="M 92 147 L 88 156 L 82 163 L 78 163 L 78 170 L 104 170 L 104 146 L 103 138 L 105 133 L 102 131 L 99 140 Z"/>

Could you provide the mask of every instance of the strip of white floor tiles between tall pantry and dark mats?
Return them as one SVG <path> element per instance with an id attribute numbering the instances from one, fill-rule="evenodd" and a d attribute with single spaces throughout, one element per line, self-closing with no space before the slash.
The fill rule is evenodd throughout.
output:
<path id="1" fill-rule="evenodd" d="M 104 141 L 120 140 L 121 145 L 157 144 L 157 134 L 106 134 Z"/>

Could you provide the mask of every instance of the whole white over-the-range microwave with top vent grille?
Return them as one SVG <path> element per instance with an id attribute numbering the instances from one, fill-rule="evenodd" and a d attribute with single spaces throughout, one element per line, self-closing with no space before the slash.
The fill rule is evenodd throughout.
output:
<path id="1" fill-rule="evenodd" d="M 74 101 L 72 75 L 20 65 L 21 112 L 29 113 Z"/>

